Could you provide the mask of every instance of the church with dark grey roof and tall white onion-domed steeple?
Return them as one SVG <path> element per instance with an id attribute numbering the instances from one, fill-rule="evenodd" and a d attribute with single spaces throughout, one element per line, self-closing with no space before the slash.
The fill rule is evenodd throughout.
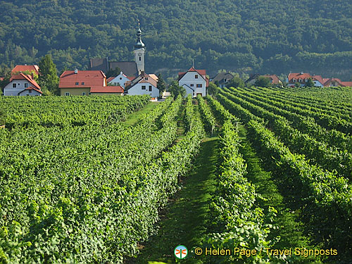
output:
<path id="1" fill-rule="evenodd" d="M 145 45 L 142 42 L 142 30 L 138 24 L 137 42 L 134 44 L 134 61 L 108 61 L 108 58 L 91 58 L 89 70 L 101 70 L 108 73 L 108 70 L 119 68 L 127 76 L 139 76 L 144 72 Z"/>

